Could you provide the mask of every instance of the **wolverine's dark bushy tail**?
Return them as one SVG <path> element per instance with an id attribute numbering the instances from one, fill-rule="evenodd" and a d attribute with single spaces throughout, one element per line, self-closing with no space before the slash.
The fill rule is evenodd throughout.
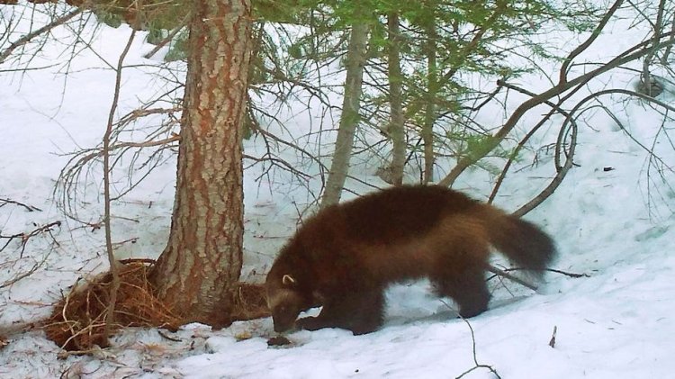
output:
<path id="1" fill-rule="evenodd" d="M 492 220 L 490 229 L 495 248 L 535 275 L 544 274 L 555 258 L 554 240 L 531 222 L 504 214 Z"/>

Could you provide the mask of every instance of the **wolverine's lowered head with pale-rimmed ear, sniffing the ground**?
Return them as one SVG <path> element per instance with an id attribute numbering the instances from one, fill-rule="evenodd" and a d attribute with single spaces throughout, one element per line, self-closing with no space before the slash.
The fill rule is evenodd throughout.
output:
<path id="1" fill-rule="evenodd" d="M 290 274 L 267 275 L 267 307 L 272 312 L 276 332 L 292 329 L 300 312 L 311 307 L 298 285 Z"/>

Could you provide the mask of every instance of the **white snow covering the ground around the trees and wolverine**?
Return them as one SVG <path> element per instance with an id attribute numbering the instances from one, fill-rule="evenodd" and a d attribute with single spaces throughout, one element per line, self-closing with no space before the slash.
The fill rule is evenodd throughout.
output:
<path id="1" fill-rule="evenodd" d="M 20 8 L 5 6 L 0 12 L 6 17 L 13 9 Z M 609 28 L 599 47 L 588 52 L 594 54 L 589 59 L 607 57 L 643 37 L 627 25 L 618 21 Z M 87 23 L 84 40 L 91 40 L 92 50 L 79 51 L 67 67 L 67 43 L 73 37 L 67 28 L 58 28 L 54 31 L 58 43 L 46 45 L 30 62 L 30 67 L 50 68 L 10 71 L 24 67 L 15 61 L 0 66 L 0 199 L 40 208 L 28 212 L 21 206 L 4 204 L 0 207 L 0 234 L 28 232 L 61 221 L 49 233 L 29 239 L 24 248 L 14 240 L 3 250 L 0 284 L 26 272 L 43 257 L 46 260 L 32 275 L 0 289 L 0 334 L 14 324 L 45 317 L 49 304 L 77 277 L 101 272 L 107 265 L 103 231 L 67 218 L 55 205 L 52 191 L 59 171 L 67 164 L 64 153 L 94 147 L 103 135 L 114 83 L 108 64 L 116 62 L 129 34 L 126 26 L 94 30 L 94 24 Z M 607 42 L 617 39 L 621 42 Z M 133 66 L 123 72 L 117 117 L 166 91 L 169 86 L 161 76 L 169 67 L 181 68 L 180 64 L 159 65 L 157 59 L 142 59 L 150 49 L 140 37 L 132 45 L 126 63 Z M 635 85 L 631 82 L 635 77 L 626 73 L 602 79 L 591 89 Z M 546 86 L 536 76 L 520 81 L 532 88 Z M 674 97 L 671 92 L 660 99 L 673 104 Z M 517 100 L 518 96 L 509 98 L 509 106 L 517 105 Z M 653 110 L 638 101 L 603 101 L 625 111 L 619 121 L 644 146 L 652 147 L 656 139 L 655 152 L 665 164 L 671 164 L 675 151 L 664 140 L 666 131 Z M 290 115 L 299 116 L 286 124 L 285 132 L 290 134 L 304 134 L 320 122 L 337 120 L 330 113 L 327 117 L 333 121 L 322 120 L 319 111 L 293 109 L 288 114 L 289 120 Z M 535 120 L 536 114 L 528 117 L 524 125 Z M 143 128 L 158 120 L 139 122 L 138 131 L 128 132 L 125 138 L 142 140 L 146 134 Z M 393 286 L 387 293 L 383 329 L 364 336 L 340 329 L 297 331 L 288 336 L 292 346 L 267 347 L 267 338 L 274 336 L 270 319 L 236 322 L 220 330 L 191 324 L 175 333 L 127 329 L 114 338 L 110 349 L 59 359 L 59 348 L 41 331 L 30 330 L 4 336 L 8 344 L 0 348 L 0 377 L 447 378 L 463 374 L 476 362 L 490 365 L 502 378 L 671 377 L 675 372 L 671 358 L 675 351 L 675 339 L 671 338 L 675 332 L 675 284 L 671 279 L 675 274 L 671 253 L 675 193 L 668 185 L 671 173 L 665 170 L 662 179 L 650 166 L 645 150 L 606 113 L 587 113 L 583 121 L 574 158 L 578 166 L 555 194 L 526 218 L 554 236 L 560 249 L 554 268 L 585 276 L 550 273 L 536 293 L 492 279 L 490 310 L 469 320 L 471 329 L 467 322 L 455 318 L 452 302 L 429 295 L 428 284 L 419 282 Z M 667 126 L 672 128 L 673 123 Z M 555 132 L 551 128 L 537 138 L 551 139 Z M 303 140 L 302 147 L 326 153 L 330 149 L 327 140 L 322 143 L 312 148 L 311 139 Z M 261 139 L 247 140 L 245 146 L 251 155 L 266 149 Z M 538 164 L 525 167 L 535 153 Z M 299 214 L 311 212 L 307 207 L 320 185 L 319 167 L 291 150 L 284 154 L 295 167 L 310 173 L 311 179 L 308 183 L 291 182 L 288 174 L 278 170 L 262 175 L 263 167 L 247 169 L 242 275 L 249 280 L 264 278 L 275 252 L 293 234 Z M 527 152 L 525 168 L 509 174 L 495 203 L 513 211 L 544 188 L 552 175 L 552 154 Z M 372 162 L 358 163 L 353 174 L 369 185 L 384 186 L 373 176 L 372 167 Z M 613 169 L 606 171 L 605 167 Z M 78 216 L 91 223 L 99 221 L 103 212 L 97 174 L 100 167 L 92 169 L 88 185 L 78 193 L 82 202 L 78 203 Z M 116 173 L 118 190 L 126 185 L 124 174 L 123 170 Z M 484 199 L 491 189 L 489 179 L 493 178 L 472 171 L 462 176 L 457 187 Z M 167 155 L 142 185 L 113 204 L 118 257 L 157 257 L 161 252 L 174 181 L 175 157 Z M 349 186 L 357 193 L 370 189 L 354 181 Z M 554 329 L 555 344 L 550 347 Z M 487 368 L 476 368 L 465 377 L 495 376 Z"/>

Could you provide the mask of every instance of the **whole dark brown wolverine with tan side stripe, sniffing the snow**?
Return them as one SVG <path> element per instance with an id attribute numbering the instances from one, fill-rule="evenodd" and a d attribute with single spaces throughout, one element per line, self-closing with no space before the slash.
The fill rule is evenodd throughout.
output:
<path id="1" fill-rule="evenodd" d="M 491 248 L 541 276 L 554 241 L 534 224 L 438 185 L 403 185 L 329 206 L 305 221 L 266 278 L 275 331 L 382 326 L 389 284 L 427 277 L 459 314 L 486 311 Z M 322 306 L 319 316 L 301 311 Z"/>

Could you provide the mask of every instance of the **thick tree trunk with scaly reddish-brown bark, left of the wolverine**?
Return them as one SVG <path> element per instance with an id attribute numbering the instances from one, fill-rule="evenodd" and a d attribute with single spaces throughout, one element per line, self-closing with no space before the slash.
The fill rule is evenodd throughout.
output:
<path id="1" fill-rule="evenodd" d="M 193 3 L 174 213 L 151 279 L 186 321 L 229 324 L 241 271 L 250 0 Z"/>

